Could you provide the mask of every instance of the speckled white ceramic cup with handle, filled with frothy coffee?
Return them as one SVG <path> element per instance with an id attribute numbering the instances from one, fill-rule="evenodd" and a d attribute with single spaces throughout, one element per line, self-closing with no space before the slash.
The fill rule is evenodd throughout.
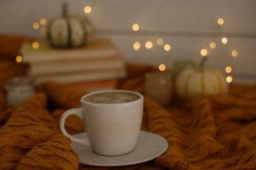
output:
<path id="1" fill-rule="evenodd" d="M 107 97 L 103 97 L 107 102 L 88 101 L 89 98 L 104 93 L 108 93 Z M 112 95 L 116 93 L 119 93 L 119 96 L 113 97 Z M 135 97 L 135 100 L 123 101 L 126 100 L 126 95 Z M 88 93 L 81 97 L 81 108 L 69 109 L 62 114 L 60 131 L 75 143 L 90 145 L 96 154 L 104 156 L 127 154 L 133 151 L 139 137 L 143 100 L 143 95 L 128 90 Z M 83 138 L 70 135 L 64 127 L 66 118 L 72 114 L 81 118 L 85 124 L 87 135 Z"/>

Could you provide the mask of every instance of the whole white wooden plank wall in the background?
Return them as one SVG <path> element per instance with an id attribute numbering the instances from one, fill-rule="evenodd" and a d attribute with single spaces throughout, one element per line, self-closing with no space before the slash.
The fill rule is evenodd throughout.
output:
<path id="1" fill-rule="evenodd" d="M 41 18 L 51 19 L 60 15 L 64 1 L 1 0 L 0 33 L 40 37 L 32 29 L 33 22 Z M 91 0 L 68 1 L 70 14 L 83 14 L 91 19 L 96 37 L 110 37 L 116 42 L 127 62 L 160 65 L 171 69 L 173 61 L 192 59 L 198 63 L 200 50 L 209 51 L 207 67 L 224 71 L 232 67 L 234 82 L 256 82 L 256 1 L 255 0 Z M 85 14 L 83 8 L 90 5 L 93 11 Z M 224 25 L 217 19 L 224 18 Z M 140 30 L 131 30 L 133 23 Z M 222 44 L 221 38 L 228 43 Z M 166 52 L 156 40 L 162 38 L 171 45 Z M 133 42 L 142 45 L 152 41 L 148 50 L 142 46 L 133 50 Z M 209 48 L 216 42 L 215 49 Z M 231 51 L 237 50 L 233 58 Z"/>

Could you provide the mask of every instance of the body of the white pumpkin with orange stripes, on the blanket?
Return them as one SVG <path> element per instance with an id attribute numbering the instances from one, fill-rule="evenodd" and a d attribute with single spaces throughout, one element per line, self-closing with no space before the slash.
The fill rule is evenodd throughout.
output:
<path id="1" fill-rule="evenodd" d="M 182 99 L 194 99 L 204 94 L 228 92 L 228 83 L 219 70 L 185 69 L 175 80 L 175 92 Z"/>

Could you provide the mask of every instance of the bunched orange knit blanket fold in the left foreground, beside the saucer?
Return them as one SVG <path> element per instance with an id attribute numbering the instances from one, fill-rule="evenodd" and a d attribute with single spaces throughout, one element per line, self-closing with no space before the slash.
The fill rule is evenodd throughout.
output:
<path id="1" fill-rule="evenodd" d="M 0 129 L 0 169 L 77 169 L 70 139 L 59 133 L 46 105 L 47 95 L 37 93 L 9 112 Z"/>

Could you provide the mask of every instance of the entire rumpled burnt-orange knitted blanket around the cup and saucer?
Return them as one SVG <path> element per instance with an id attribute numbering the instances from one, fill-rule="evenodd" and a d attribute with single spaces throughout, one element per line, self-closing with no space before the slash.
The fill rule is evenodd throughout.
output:
<path id="1" fill-rule="evenodd" d="M 117 88 L 143 93 L 150 70 L 128 65 L 129 76 Z M 7 106 L 3 86 L 22 75 L 21 65 L 2 59 L 0 74 L 0 169 L 120 169 L 79 164 L 70 139 L 60 133 L 61 114 L 79 107 L 87 92 L 45 82 L 24 103 Z M 73 134 L 84 130 L 75 116 L 66 127 Z M 175 99 L 165 108 L 145 96 L 142 129 L 162 135 L 169 147 L 155 160 L 122 169 L 256 169 L 256 86 L 232 85 L 227 95 Z"/>

